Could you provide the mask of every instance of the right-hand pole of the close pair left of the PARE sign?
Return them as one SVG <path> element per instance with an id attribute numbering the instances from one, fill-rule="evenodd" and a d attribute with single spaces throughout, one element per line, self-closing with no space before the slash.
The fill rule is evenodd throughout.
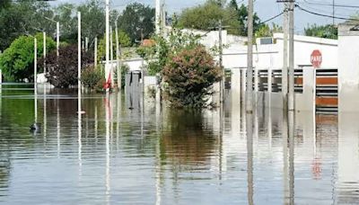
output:
<path id="1" fill-rule="evenodd" d="M 288 111 L 294 111 L 294 0 L 289 3 L 289 96 Z"/>

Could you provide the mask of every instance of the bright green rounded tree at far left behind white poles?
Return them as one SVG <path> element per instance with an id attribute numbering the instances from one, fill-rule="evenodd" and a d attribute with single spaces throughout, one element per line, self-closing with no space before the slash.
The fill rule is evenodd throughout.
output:
<path id="1" fill-rule="evenodd" d="M 38 40 L 38 57 L 43 55 L 43 34 L 36 35 Z M 46 48 L 48 51 L 56 48 L 56 43 L 47 37 Z M 32 78 L 34 62 L 34 38 L 21 36 L 14 40 L 8 49 L 0 56 L 0 67 L 7 81 L 22 81 Z M 39 63 L 42 61 L 39 61 Z"/>

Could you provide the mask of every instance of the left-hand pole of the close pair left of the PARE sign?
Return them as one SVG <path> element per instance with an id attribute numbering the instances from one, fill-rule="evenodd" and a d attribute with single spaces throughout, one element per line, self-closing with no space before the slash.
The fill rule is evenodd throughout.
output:
<path id="1" fill-rule="evenodd" d="M 285 3 L 285 16 L 283 23 L 283 68 L 282 68 L 282 94 L 283 108 L 288 109 L 288 4 Z M 268 85 L 271 86 L 271 85 Z"/>

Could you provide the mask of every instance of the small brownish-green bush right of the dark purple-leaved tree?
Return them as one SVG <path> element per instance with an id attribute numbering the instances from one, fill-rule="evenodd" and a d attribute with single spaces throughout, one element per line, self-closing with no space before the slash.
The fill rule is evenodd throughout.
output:
<path id="1" fill-rule="evenodd" d="M 86 67 L 81 75 L 83 85 L 91 90 L 95 89 L 99 85 L 99 82 L 103 82 L 102 80 L 104 79 L 105 77 L 100 69 L 96 69 L 93 66 Z"/>

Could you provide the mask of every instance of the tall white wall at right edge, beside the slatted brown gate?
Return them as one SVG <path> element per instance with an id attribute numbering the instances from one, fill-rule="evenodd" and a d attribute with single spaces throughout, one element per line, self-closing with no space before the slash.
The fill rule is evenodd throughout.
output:
<path id="1" fill-rule="evenodd" d="M 359 31 L 355 24 L 339 25 L 339 111 L 359 111 Z"/>

